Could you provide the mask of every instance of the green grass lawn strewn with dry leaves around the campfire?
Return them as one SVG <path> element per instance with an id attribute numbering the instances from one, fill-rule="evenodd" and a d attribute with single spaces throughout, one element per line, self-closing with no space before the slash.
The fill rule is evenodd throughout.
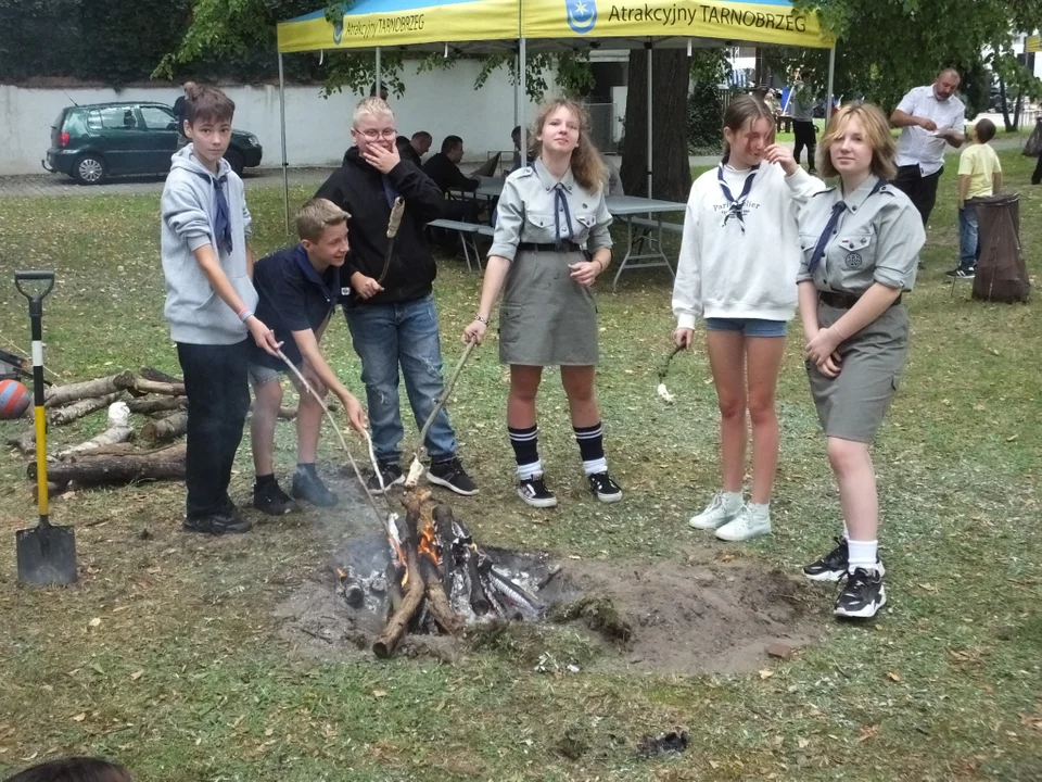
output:
<path id="1" fill-rule="evenodd" d="M 1038 278 L 1034 161 L 1001 156 L 1024 197 L 1024 252 Z M 306 656 L 280 638 L 272 607 L 326 564 L 335 514 L 203 540 L 179 530 L 181 485 L 80 491 L 55 500 L 52 513 L 77 525 L 79 585 L 28 590 L 15 581 L 13 531 L 35 524 L 35 508 L 23 461 L 4 451 L 0 775 L 86 753 L 155 782 L 1042 779 L 1042 318 L 1037 305 L 970 301 L 966 282 L 952 295 L 943 272 L 957 254 L 953 172 L 941 182 L 927 270 L 907 297 L 911 362 L 875 449 L 890 573 L 890 606 L 876 622 L 834 623 L 825 613 L 833 590 L 815 588 L 824 642 L 787 661 L 765 658 L 750 674 L 605 673 L 585 661 L 579 673 L 536 671 L 533 653 L 585 653 L 552 633 L 468 651 L 455 665 Z M 308 194 L 293 191 L 296 203 Z M 280 195 L 250 193 L 260 252 L 285 241 Z M 177 373 L 157 219 L 157 194 L 0 199 L 4 342 L 27 341 L 13 270 L 53 268 L 50 367 L 74 379 L 142 365 Z M 460 265 L 443 263 L 436 283 L 446 363 L 459 355 L 480 286 Z M 673 327 L 670 292 L 670 278 L 651 269 L 623 275 L 618 293 L 597 293 L 598 392 L 626 490 L 618 505 L 586 495 L 564 398 L 548 376 L 542 444 L 561 505 L 522 506 L 495 345 L 472 360 L 450 411 L 482 491 L 454 505 L 480 540 L 620 567 L 665 558 L 683 568 L 685 552 L 710 546 L 793 576 L 830 547 L 839 507 L 796 325 L 779 392 L 775 533 L 717 547 L 686 528 L 716 485 L 716 411 L 701 350 L 673 364 L 677 403 L 655 396 Z M 338 318 L 329 331 L 334 366 L 361 395 L 346 327 Z M 72 441 L 102 419 L 52 432 Z M 0 440 L 23 426 L 3 424 Z M 338 463 L 332 441 L 323 450 Z M 292 427 L 281 425 L 283 475 L 292 443 Z M 232 485 L 243 504 L 251 471 L 244 446 Z M 687 753 L 636 757 L 640 735 L 674 726 L 691 731 Z"/>

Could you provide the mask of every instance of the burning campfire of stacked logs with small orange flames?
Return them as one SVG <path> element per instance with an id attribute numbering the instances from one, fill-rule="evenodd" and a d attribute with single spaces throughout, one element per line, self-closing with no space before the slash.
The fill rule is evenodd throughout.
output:
<path id="1" fill-rule="evenodd" d="M 495 619 L 532 619 L 545 606 L 523 571 L 508 571 L 480 548 L 470 530 L 431 493 L 412 489 L 402 500 L 406 516 L 386 519 L 386 566 L 360 575 L 348 564 L 334 567 L 338 591 L 352 610 L 381 613 L 386 621 L 372 644 L 378 657 L 394 654 L 406 633 L 456 635 L 468 625 Z"/>

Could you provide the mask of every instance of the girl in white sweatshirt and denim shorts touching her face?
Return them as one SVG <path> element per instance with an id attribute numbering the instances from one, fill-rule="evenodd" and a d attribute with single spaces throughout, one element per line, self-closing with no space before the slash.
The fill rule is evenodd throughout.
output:
<path id="1" fill-rule="evenodd" d="M 774 142 L 774 117 L 759 98 L 724 113 L 724 159 L 691 187 L 673 288 L 674 340 L 690 348 L 706 321 L 721 422 L 722 491 L 692 517 L 696 529 L 741 541 L 771 531 L 778 464 L 775 392 L 788 321 L 796 313 L 800 205 L 825 185 Z M 752 495 L 742 499 L 746 409 L 752 419 Z"/>

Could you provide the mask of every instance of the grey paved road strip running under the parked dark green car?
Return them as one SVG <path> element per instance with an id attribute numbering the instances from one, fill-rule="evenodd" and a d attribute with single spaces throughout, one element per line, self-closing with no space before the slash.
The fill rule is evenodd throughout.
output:
<path id="1" fill-rule="evenodd" d="M 791 142 L 787 142 L 791 147 Z M 1019 149 L 1024 139 L 999 138 L 992 141 L 996 150 Z M 948 149 L 949 154 L 958 150 Z M 688 163 L 692 166 L 711 166 L 719 162 L 715 155 L 691 155 Z M 617 163 L 618 165 L 618 163 Z M 467 164 L 465 169 L 471 169 Z M 317 188 L 332 172 L 332 167 L 290 167 L 290 185 L 306 185 Z M 165 176 L 119 177 L 97 187 L 77 185 L 63 174 L 34 174 L 30 176 L 0 176 L 0 198 L 34 195 L 102 195 L 125 193 L 162 192 Z M 282 171 L 278 167 L 251 168 L 243 176 L 246 189 L 263 187 L 282 187 Z"/>

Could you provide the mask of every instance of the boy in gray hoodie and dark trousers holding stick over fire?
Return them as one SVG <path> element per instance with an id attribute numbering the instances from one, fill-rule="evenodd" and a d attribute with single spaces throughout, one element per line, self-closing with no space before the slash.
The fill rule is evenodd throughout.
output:
<path id="1" fill-rule="evenodd" d="M 224 154 L 236 104 L 215 87 L 186 90 L 182 131 L 163 188 L 166 319 L 188 395 L 185 530 L 224 534 L 252 525 L 228 496 L 250 408 L 247 337 L 269 353 L 275 333 L 253 315 L 250 212 L 242 180 Z"/>

